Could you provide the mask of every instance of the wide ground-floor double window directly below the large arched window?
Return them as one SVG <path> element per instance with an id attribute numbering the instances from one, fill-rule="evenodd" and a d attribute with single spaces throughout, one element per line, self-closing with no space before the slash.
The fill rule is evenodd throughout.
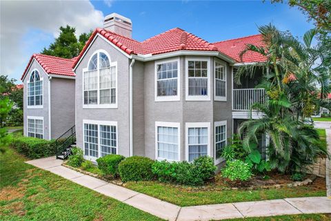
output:
<path id="1" fill-rule="evenodd" d="M 117 154 L 117 122 L 84 120 L 84 155 L 98 158 Z"/>

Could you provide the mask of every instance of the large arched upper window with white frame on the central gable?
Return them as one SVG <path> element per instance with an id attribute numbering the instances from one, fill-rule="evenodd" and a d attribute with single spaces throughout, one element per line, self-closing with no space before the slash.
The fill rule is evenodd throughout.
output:
<path id="1" fill-rule="evenodd" d="M 106 52 L 95 52 L 83 71 L 84 105 L 117 104 L 117 62 L 110 62 Z"/>

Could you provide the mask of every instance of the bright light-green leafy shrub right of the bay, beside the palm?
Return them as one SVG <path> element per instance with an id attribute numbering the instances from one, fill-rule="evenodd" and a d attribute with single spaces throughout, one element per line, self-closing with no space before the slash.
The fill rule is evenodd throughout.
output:
<path id="1" fill-rule="evenodd" d="M 251 175 L 251 167 L 241 160 L 227 162 L 222 170 L 222 176 L 231 181 L 248 181 Z"/>

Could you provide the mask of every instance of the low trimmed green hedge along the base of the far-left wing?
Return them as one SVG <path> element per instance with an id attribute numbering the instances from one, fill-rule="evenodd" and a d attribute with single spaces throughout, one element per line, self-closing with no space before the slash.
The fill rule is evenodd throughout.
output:
<path id="1" fill-rule="evenodd" d="M 10 146 L 31 159 L 50 157 L 57 151 L 54 140 L 48 141 L 21 135 L 12 136 Z"/>

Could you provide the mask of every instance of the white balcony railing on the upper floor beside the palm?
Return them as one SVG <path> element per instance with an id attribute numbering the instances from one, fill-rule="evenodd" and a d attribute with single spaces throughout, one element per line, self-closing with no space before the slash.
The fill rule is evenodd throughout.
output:
<path id="1" fill-rule="evenodd" d="M 232 110 L 233 111 L 250 111 L 254 103 L 265 104 L 267 95 L 265 89 L 233 89 L 232 90 Z"/>

